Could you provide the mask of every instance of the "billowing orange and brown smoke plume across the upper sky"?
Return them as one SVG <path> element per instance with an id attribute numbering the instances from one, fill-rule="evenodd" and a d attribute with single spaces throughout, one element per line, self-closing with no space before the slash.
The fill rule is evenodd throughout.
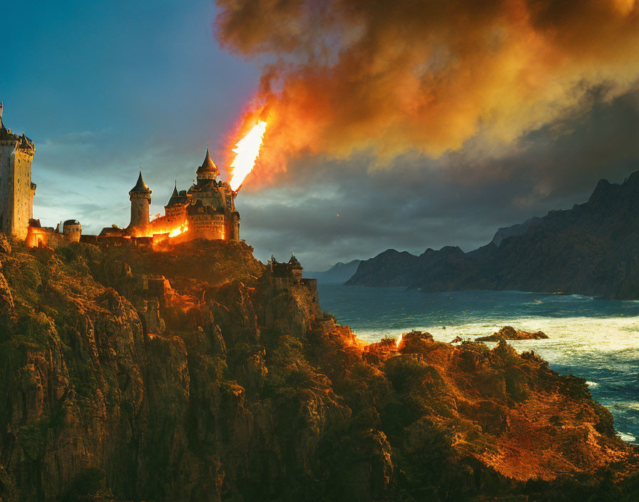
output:
<path id="1" fill-rule="evenodd" d="M 221 46 L 262 66 L 244 120 L 268 122 L 269 170 L 300 154 L 383 163 L 469 138 L 513 144 L 574 113 L 594 86 L 612 99 L 639 76 L 635 0 L 217 4 Z"/>

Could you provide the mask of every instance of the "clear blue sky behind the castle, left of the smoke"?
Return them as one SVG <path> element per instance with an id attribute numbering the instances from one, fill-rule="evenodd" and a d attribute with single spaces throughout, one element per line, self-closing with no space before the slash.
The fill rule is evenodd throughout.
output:
<path id="1" fill-rule="evenodd" d="M 255 64 L 213 39 L 209 1 L 12 2 L 4 16 L 4 122 L 36 143 L 34 212 L 47 224 L 126 225 L 140 162 L 163 210 L 208 141 L 223 158 L 255 91 Z"/>

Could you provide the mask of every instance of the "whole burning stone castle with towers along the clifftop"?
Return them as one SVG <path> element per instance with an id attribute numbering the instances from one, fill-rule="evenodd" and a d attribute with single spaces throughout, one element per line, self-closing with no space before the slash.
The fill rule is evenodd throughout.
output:
<path id="1" fill-rule="evenodd" d="M 165 205 L 165 214 L 151 220 L 151 193 L 142 178 L 129 191 L 131 220 L 128 227 L 106 227 L 100 235 L 83 235 L 76 220 L 66 220 L 62 228 L 42 227 L 33 217 L 35 183 L 31 183 L 34 142 L 22 133 L 11 132 L 2 122 L 0 103 L 0 231 L 25 240 L 29 246 L 60 247 L 71 242 L 106 245 L 153 245 L 171 239 L 240 240 L 240 214 L 235 209 L 237 192 L 227 182 L 218 180 L 220 170 L 208 148 L 202 165 L 196 170 L 197 181 L 188 190 L 178 191 L 177 182 Z"/>

